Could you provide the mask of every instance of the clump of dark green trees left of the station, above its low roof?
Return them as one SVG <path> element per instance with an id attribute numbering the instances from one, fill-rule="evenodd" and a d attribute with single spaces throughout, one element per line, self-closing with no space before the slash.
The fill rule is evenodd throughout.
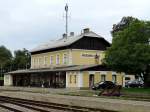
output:
<path id="1" fill-rule="evenodd" d="M 30 68 L 30 58 L 30 53 L 26 49 L 15 51 L 13 57 L 10 50 L 0 46 L 0 73 Z"/>

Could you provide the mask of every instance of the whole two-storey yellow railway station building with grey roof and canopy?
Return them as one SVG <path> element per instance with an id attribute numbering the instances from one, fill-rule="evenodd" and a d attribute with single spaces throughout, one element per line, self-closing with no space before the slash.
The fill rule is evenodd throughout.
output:
<path id="1" fill-rule="evenodd" d="M 110 43 L 102 36 L 83 30 L 73 32 L 31 50 L 31 68 L 17 70 L 4 76 L 5 86 L 48 88 L 90 88 L 100 81 L 124 84 L 124 73 L 102 65 Z"/>

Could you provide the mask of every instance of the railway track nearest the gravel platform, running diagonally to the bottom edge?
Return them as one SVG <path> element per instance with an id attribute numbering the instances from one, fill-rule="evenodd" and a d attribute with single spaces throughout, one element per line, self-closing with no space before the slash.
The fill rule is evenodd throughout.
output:
<path id="1" fill-rule="evenodd" d="M 38 106 L 38 107 L 46 107 L 46 108 L 57 109 L 57 110 L 72 111 L 72 112 L 116 112 L 116 111 L 110 111 L 110 110 L 104 110 L 104 109 L 95 109 L 95 108 L 71 106 L 71 105 L 57 104 L 57 103 L 50 103 L 50 102 L 33 101 L 33 100 L 12 98 L 12 97 L 6 97 L 6 96 L 0 96 L 0 100 L 7 101 L 9 103 L 13 103 L 13 104 L 24 106 L 24 107 L 31 108 L 31 109 L 33 107 L 31 106 L 28 107 L 29 105 Z M 36 110 L 36 108 L 33 108 L 33 109 Z M 43 111 L 43 112 L 49 112 L 49 111 Z"/>

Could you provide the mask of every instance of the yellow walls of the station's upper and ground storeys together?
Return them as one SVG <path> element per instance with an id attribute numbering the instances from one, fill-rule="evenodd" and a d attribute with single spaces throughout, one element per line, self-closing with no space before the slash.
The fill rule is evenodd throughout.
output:
<path id="1" fill-rule="evenodd" d="M 67 56 L 67 61 L 64 63 L 64 54 Z M 95 55 L 98 55 L 98 63 L 96 63 Z M 59 56 L 59 63 L 57 62 L 57 56 Z M 51 59 L 52 57 L 52 59 Z M 67 66 L 67 65 L 92 65 L 92 64 L 101 64 L 103 58 L 105 57 L 104 51 L 98 50 L 81 50 L 81 49 L 66 49 L 59 50 L 47 53 L 41 53 L 31 56 L 31 68 L 50 68 L 55 66 Z M 52 61 L 52 62 L 51 62 Z M 89 87 L 89 75 L 90 71 L 81 72 L 82 79 L 79 77 L 77 71 L 69 72 L 67 74 L 68 78 L 66 82 L 68 83 L 67 87 Z M 116 75 L 116 83 L 119 85 L 123 84 L 123 75 L 120 73 L 115 73 L 112 71 L 94 71 L 94 83 L 102 81 L 101 75 L 105 75 L 106 81 L 112 81 L 112 75 Z M 80 82 L 79 82 L 80 80 Z M 81 84 L 79 84 L 81 83 Z"/>

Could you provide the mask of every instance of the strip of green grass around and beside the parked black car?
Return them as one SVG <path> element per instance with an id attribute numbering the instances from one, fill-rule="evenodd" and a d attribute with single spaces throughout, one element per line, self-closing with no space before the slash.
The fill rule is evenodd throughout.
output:
<path id="1" fill-rule="evenodd" d="M 60 93 L 63 95 L 70 96 L 84 96 L 84 97 L 95 97 L 99 94 L 99 90 L 80 90 L 77 92 Z M 150 88 L 123 88 L 120 97 L 115 96 L 96 96 L 98 98 L 115 98 L 124 100 L 138 100 L 138 101 L 150 101 Z"/>

